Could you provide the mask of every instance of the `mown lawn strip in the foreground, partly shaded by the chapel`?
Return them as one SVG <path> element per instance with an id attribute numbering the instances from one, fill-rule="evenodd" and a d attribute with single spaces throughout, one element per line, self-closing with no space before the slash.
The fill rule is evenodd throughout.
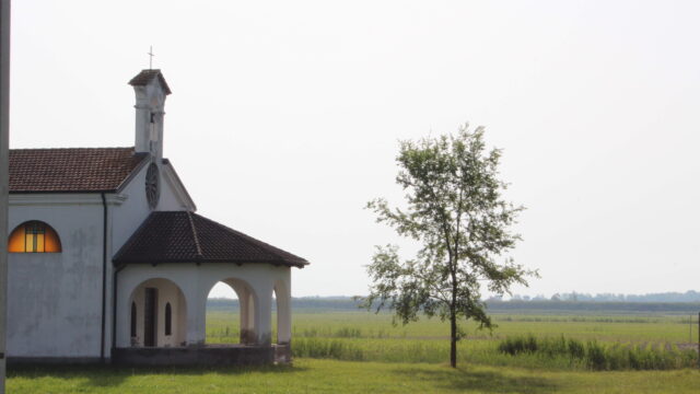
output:
<path id="1" fill-rule="evenodd" d="M 478 364 L 299 359 L 247 369 L 44 368 L 11 371 L 9 393 L 697 393 L 700 372 L 538 371 Z"/>

